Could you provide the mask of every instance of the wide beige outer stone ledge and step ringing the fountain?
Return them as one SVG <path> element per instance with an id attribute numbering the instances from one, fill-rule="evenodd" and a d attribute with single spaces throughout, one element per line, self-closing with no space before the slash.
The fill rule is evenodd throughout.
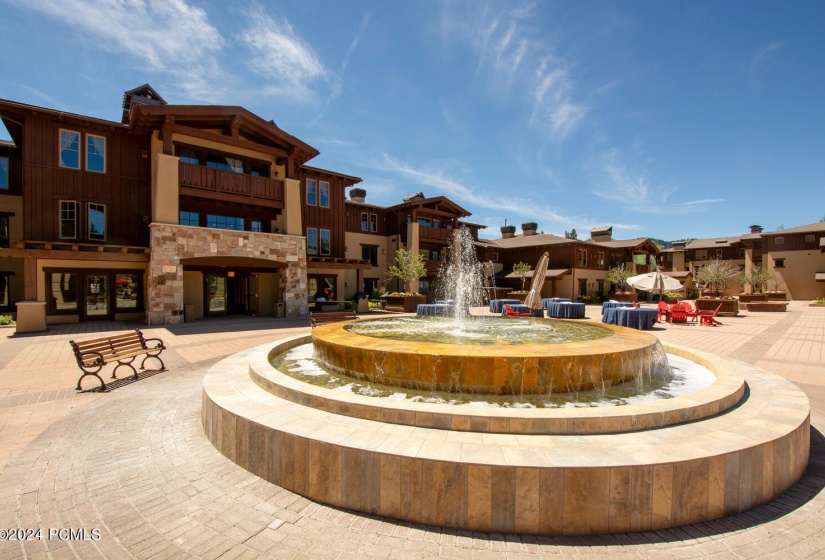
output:
<path id="1" fill-rule="evenodd" d="M 627 416 L 652 419 L 668 413 L 645 416 L 636 409 L 604 421 L 605 409 L 598 414 L 591 409 L 508 410 L 505 423 L 504 416 L 495 420 L 490 410 L 485 411 L 487 430 L 475 431 L 472 422 L 470 429 L 453 429 L 452 419 L 449 428 L 427 426 L 429 411 L 424 410 L 423 425 L 418 420 L 391 423 L 383 411 L 380 420 L 367 417 L 374 412 L 353 414 L 363 407 L 357 399 L 348 403 L 349 414 L 343 413 L 347 403 L 341 401 L 355 395 L 336 398 L 340 408 L 331 411 L 332 405 L 325 407 L 310 389 L 287 387 L 289 398 L 274 394 L 282 391 L 275 388 L 276 379 L 262 375 L 271 350 L 267 345 L 242 352 L 210 370 L 202 410 L 207 437 L 227 458 L 270 482 L 368 514 L 534 534 L 662 529 L 766 502 L 798 480 L 808 462 L 810 407 L 804 393 L 759 368 L 719 357 L 711 362 L 683 348 L 666 346 L 730 383 L 720 398 L 684 401 L 685 407 L 719 402 L 717 413 L 657 429 L 636 426 L 637 431 L 626 433 L 586 432 L 599 426 L 598 417 L 600 431 L 611 432 L 615 418 L 630 425 Z M 747 384 L 744 396 L 736 379 Z M 731 399 L 738 406 L 730 406 Z M 669 413 L 671 419 L 682 422 L 693 414 L 676 420 L 680 409 Z M 551 422 L 559 413 L 572 414 L 565 418 L 563 435 L 529 433 L 561 426 Z M 402 416 L 397 410 L 395 415 Z M 438 413 L 433 421 L 445 422 Z M 567 431 L 570 426 L 579 426 L 575 435 Z"/>

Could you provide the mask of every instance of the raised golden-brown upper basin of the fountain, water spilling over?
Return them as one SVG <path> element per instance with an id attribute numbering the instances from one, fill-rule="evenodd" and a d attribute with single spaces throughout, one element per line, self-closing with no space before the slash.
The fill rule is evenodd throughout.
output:
<path id="1" fill-rule="evenodd" d="M 477 319 L 478 320 L 478 319 Z M 378 325 L 387 319 L 369 320 Z M 487 318 L 491 328 L 508 319 Z M 510 319 L 538 328 L 541 319 Z M 563 344 L 448 344 L 375 338 L 350 330 L 359 323 L 331 323 L 312 332 L 315 354 L 327 367 L 360 380 L 409 389 L 476 394 L 581 391 L 661 374 L 667 358 L 648 333 L 615 325 L 554 320 L 587 328 L 589 340 Z"/>

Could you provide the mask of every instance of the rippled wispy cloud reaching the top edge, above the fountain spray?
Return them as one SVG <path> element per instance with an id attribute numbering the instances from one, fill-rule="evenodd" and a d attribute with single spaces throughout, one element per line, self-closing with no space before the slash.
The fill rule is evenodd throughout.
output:
<path id="1" fill-rule="evenodd" d="M 587 107 L 576 99 L 571 65 L 533 24 L 539 6 L 532 2 L 442 3 L 442 37 L 459 40 L 478 56 L 477 78 L 531 108 L 528 126 L 552 140 L 564 140 Z"/>

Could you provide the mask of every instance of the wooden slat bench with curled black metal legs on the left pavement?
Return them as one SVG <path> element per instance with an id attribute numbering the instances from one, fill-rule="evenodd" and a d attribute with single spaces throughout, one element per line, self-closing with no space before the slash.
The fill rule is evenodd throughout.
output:
<path id="1" fill-rule="evenodd" d="M 150 342 L 151 345 L 148 344 Z M 76 390 L 78 391 L 80 391 L 80 382 L 87 375 L 97 377 L 100 381 L 100 390 L 105 391 L 106 383 L 103 382 L 97 372 L 106 364 L 113 362 L 117 362 L 117 366 L 112 371 L 112 379 L 116 379 L 115 373 L 118 368 L 124 366 L 131 369 L 135 374 L 135 379 L 137 379 L 137 370 L 132 362 L 138 356 L 144 356 L 143 361 L 140 362 L 140 369 L 144 369 L 143 365 L 149 358 L 155 358 L 160 362 L 160 371 L 166 369 L 163 360 L 160 359 L 160 353 L 166 349 L 163 341 L 159 338 L 143 338 L 143 333 L 137 329 L 135 329 L 135 332 L 128 334 L 118 334 L 82 342 L 70 340 L 69 344 L 71 344 L 74 351 L 78 367 L 83 371 L 83 375 L 77 380 Z"/>

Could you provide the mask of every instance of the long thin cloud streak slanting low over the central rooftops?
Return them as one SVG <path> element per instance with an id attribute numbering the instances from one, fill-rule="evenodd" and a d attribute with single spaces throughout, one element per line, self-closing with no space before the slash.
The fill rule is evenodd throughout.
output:
<path id="1" fill-rule="evenodd" d="M 405 182 L 415 185 L 433 187 L 440 195 L 447 196 L 459 204 L 496 210 L 504 216 L 518 216 L 519 219 L 528 219 L 540 222 L 543 229 L 592 227 L 593 223 L 581 216 L 566 216 L 548 206 L 537 204 L 535 200 L 520 197 L 491 196 L 489 192 L 481 192 L 449 176 L 441 169 L 416 168 L 403 163 L 398 159 L 384 154 L 382 160 L 374 164 L 376 169 L 388 171 L 401 176 Z M 418 188 L 418 187 L 415 187 Z M 494 191 L 495 189 L 489 189 Z"/>

